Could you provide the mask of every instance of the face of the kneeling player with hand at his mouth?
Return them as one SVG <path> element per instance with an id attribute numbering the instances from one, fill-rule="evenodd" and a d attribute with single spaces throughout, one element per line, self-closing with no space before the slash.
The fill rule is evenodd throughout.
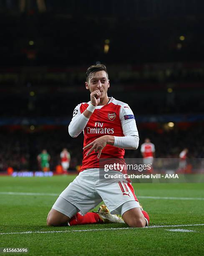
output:
<path id="1" fill-rule="evenodd" d="M 107 74 L 104 70 L 98 71 L 91 78 L 88 79 L 86 89 L 90 92 L 99 90 L 101 92 L 101 99 L 107 97 L 108 87 L 110 86 Z"/>

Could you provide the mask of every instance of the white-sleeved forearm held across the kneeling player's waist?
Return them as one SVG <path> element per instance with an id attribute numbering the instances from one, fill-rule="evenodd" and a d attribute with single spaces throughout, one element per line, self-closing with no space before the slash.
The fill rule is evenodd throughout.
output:
<path id="1" fill-rule="evenodd" d="M 138 136 L 124 136 L 118 137 L 114 136 L 114 144 L 113 146 L 117 148 L 124 149 L 137 149 L 139 146 L 139 137 Z"/>

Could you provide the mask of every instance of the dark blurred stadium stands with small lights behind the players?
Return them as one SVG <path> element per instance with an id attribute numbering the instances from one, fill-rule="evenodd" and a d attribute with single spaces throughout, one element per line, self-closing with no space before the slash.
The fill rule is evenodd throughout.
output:
<path id="1" fill-rule="evenodd" d="M 89 101 L 96 63 L 108 68 L 108 95 L 131 106 L 140 145 L 149 137 L 156 157 L 187 147 L 203 158 L 203 10 L 199 0 L 0 0 L 0 172 L 37 170 L 43 148 L 51 170 L 63 147 L 70 169 L 81 164 L 83 136 L 67 125 Z"/>

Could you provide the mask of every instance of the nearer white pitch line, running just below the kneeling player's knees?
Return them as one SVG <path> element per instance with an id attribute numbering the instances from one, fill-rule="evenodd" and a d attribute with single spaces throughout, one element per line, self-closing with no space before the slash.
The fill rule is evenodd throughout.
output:
<path id="1" fill-rule="evenodd" d="M 204 226 L 204 224 L 188 224 L 188 225 L 158 225 L 148 226 L 145 228 L 173 228 L 173 227 L 192 227 L 192 226 Z M 25 231 L 25 232 L 10 232 L 0 233 L 0 235 L 21 235 L 21 234 L 45 234 L 45 233 L 69 233 L 69 232 L 90 232 L 90 231 L 113 231 L 113 230 L 124 230 L 124 229 L 135 229 L 135 228 L 94 228 L 94 229 L 72 229 L 72 230 L 51 230 L 51 231 Z M 136 229 L 135 229 L 136 230 Z"/>

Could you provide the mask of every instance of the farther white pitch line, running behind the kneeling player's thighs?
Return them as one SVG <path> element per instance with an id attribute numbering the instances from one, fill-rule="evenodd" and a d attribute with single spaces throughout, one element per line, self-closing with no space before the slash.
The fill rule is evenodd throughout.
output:
<path id="1" fill-rule="evenodd" d="M 30 193 L 30 192 L 0 192 L 0 195 L 28 195 L 28 196 L 58 196 L 60 194 L 54 193 Z M 204 200 L 204 197 L 149 197 L 138 196 L 141 199 L 165 199 L 165 200 Z"/>

